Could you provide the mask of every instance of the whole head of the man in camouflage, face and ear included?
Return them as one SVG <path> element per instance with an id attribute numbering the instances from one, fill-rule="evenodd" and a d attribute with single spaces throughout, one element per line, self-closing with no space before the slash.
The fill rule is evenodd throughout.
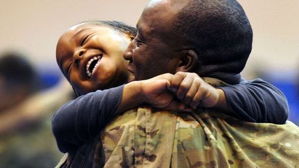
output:
<path id="1" fill-rule="evenodd" d="M 152 0 L 137 29 L 124 55 L 137 80 L 188 71 L 235 84 L 251 53 L 251 26 L 233 0 Z"/>

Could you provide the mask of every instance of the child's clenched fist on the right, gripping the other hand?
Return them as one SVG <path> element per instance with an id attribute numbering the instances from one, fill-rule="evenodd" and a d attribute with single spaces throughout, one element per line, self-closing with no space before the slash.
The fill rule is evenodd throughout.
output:
<path id="1" fill-rule="evenodd" d="M 171 89 L 179 100 L 192 109 L 196 109 L 197 106 L 217 106 L 220 103 L 219 97 L 223 96 L 220 93 L 221 89 L 210 86 L 196 73 L 176 73 L 172 77 Z"/>

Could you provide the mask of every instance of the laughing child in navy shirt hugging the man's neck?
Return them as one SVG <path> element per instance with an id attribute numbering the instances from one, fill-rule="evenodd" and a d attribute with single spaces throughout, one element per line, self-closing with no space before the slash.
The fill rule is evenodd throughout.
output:
<path id="1" fill-rule="evenodd" d="M 262 80 L 213 88 L 198 75 L 176 73 L 130 82 L 133 77 L 122 55 L 135 35 L 134 28 L 118 21 L 87 21 L 60 37 L 57 63 L 76 95 L 82 95 L 53 115 L 53 133 L 60 151 L 75 152 L 118 113 L 144 103 L 184 111 L 190 110 L 189 106 L 196 108 L 201 100 L 200 106 L 225 109 L 241 120 L 287 120 L 286 98 Z M 105 88 L 110 89 L 100 91 Z"/>

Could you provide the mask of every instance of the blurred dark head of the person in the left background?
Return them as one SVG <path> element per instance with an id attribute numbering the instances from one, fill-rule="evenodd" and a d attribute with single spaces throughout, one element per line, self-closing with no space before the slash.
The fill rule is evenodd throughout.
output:
<path id="1" fill-rule="evenodd" d="M 0 111 L 39 91 L 41 81 L 33 66 L 18 53 L 0 56 Z"/>

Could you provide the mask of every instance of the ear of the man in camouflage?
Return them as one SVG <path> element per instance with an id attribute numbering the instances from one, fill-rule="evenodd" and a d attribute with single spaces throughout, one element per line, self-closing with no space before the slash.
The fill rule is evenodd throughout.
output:
<path id="1" fill-rule="evenodd" d="M 190 72 L 197 66 L 198 55 L 194 50 L 183 50 L 176 72 Z"/>

